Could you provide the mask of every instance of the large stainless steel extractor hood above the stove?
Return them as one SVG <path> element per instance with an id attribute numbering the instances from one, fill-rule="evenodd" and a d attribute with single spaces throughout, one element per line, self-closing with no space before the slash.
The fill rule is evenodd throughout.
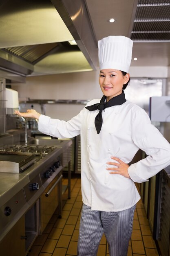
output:
<path id="1" fill-rule="evenodd" d="M 0 13 L 0 76 L 95 70 L 97 45 L 83 0 L 2 0 Z"/>

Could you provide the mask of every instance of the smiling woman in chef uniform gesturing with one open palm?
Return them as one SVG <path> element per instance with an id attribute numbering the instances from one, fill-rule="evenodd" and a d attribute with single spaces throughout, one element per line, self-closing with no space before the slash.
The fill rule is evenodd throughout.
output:
<path id="1" fill-rule="evenodd" d="M 146 112 L 125 99 L 130 75 L 132 40 L 108 36 L 98 42 L 99 84 L 104 94 L 70 121 L 40 115 L 35 110 L 16 114 L 39 119 L 47 135 L 81 135 L 82 216 L 78 256 L 96 256 L 103 233 L 110 256 L 126 256 L 136 203 L 134 182 L 145 182 L 170 164 L 170 144 L 150 124 Z M 137 150 L 148 157 L 128 165 Z"/>

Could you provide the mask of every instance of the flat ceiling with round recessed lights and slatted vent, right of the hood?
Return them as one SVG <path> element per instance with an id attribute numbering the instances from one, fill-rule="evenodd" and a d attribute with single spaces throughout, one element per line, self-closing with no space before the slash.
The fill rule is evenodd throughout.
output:
<path id="1" fill-rule="evenodd" d="M 170 65 L 170 0 L 86 0 L 86 3 L 96 40 L 109 35 L 128 36 L 134 40 L 132 66 Z M 108 22 L 110 18 L 115 22 Z M 134 57 L 138 60 L 134 61 Z"/>

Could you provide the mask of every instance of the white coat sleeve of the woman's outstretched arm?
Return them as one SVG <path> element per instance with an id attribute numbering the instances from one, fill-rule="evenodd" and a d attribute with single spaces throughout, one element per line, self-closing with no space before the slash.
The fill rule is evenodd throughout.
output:
<path id="1" fill-rule="evenodd" d="M 84 109 L 69 121 L 52 119 L 48 116 L 40 115 L 38 130 L 46 135 L 57 138 L 72 138 L 80 134 Z"/>

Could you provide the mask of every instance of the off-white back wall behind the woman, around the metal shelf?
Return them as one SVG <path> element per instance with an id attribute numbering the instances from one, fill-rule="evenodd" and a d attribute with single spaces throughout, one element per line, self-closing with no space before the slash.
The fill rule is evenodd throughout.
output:
<path id="1" fill-rule="evenodd" d="M 130 67 L 131 77 L 166 78 L 167 67 Z M 99 99 L 102 92 L 99 88 L 99 70 L 26 78 L 25 84 L 12 85 L 19 93 L 21 101 L 30 99 Z M 31 105 L 31 104 L 30 104 Z M 30 105 L 23 106 L 31 108 Z M 40 106 L 33 108 L 41 111 Z M 84 105 L 46 104 L 46 115 L 52 118 L 69 120 L 77 115 Z"/>

